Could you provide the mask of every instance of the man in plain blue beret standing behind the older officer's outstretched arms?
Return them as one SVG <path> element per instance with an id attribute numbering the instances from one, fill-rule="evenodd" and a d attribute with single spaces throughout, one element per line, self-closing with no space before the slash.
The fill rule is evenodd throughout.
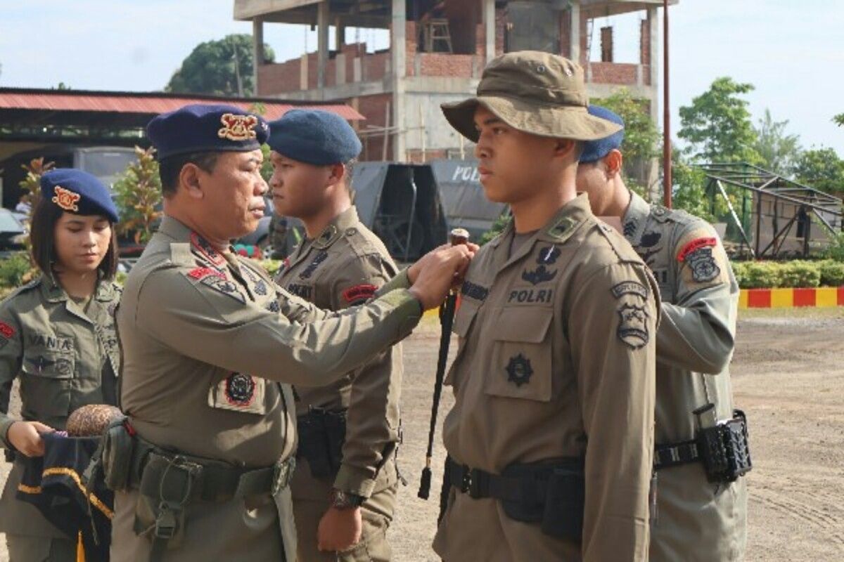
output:
<path id="1" fill-rule="evenodd" d="M 273 202 L 306 231 L 276 281 L 319 308 L 366 302 L 397 269 L 351 202 L 350 163 L 360 140 L 342 117 L 319 110 L 289 111 L 270 130 Z M 295 388 L 299 451 L 290 490 L 299 562 L 391 558 L 402 370 L 395 345 L 331 386 Z M 349 538 L 360 542 L 320 552 Z"/>

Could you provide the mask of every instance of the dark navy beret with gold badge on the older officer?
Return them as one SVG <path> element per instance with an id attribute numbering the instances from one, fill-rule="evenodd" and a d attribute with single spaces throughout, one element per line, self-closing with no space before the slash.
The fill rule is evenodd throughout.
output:
<path id="1" fill-rule="evenodd" d="M 260 148 L 268 135 L 266 120 L 234 105 L 186 105 L 156 116 L 147 126 L 159 159 L 187 153 L 246 152 Z"/>

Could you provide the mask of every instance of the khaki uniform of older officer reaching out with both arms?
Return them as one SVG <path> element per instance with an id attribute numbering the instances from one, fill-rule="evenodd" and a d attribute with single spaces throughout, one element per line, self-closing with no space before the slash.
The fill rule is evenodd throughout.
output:
<path id="1" fill-rule="evenodd" d="M 332 383 L 418 323 L 419 302 L 390 288 L 364 307 L 328 313 L 281 290 L 257 263 L 221 254 L 165 217 L 127 277 L 117 313 L 123 409 L 159 447 L 244 468 L 288 458 L 289 383 Z M 136 492 L 116 494 L 112 560 L 149 554 L 149 540 L 133 531 L 136 504 Z M 196 502 L 185 517 L 168 560 L 295 559 L 287 489 L 274 498 Z"/>

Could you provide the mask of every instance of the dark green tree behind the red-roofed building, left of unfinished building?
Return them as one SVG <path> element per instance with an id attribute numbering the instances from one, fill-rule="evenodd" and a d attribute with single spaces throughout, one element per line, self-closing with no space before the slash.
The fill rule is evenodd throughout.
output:
<path id="1" fill-rule="evenodd" d="M 264 62 L 275 54 L 264 45 Z M 255 93 L 252 80 L 252 35 L 226 35 L 197 45 L 165 86 L 166 92 L 244 95 Z"/>

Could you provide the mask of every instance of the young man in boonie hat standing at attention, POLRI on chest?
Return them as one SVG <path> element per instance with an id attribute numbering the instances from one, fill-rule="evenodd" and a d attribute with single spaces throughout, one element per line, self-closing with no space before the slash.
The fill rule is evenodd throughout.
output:
<path id="1" fill-rule="evenodd" d="M 575 190 L 581 142 L 619 126 L 587 114 L 581 67 L 536 51 L 496 58 L 478 96 L 443 112 L 513 221 L 475 256 L 454 319 L 452 488 L 434 549 L 645 560 L 656 284 Z"/>

